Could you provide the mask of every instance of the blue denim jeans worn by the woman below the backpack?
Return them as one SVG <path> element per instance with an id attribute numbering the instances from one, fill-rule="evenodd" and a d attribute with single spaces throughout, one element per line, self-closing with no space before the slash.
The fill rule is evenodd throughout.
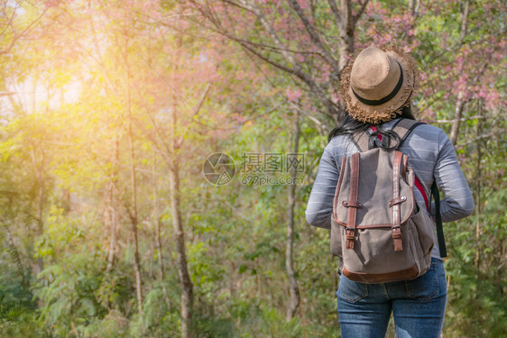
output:
<path id="1" fill-rule="evenodd" d="M 336 296 L 344 338 L 384 337 L 391 312 L 397 338 L 438 338 L 446 312 L 446 271 L 432 258 L 428 272 L 408 281 L 363 284 L 340 275 Z"/>

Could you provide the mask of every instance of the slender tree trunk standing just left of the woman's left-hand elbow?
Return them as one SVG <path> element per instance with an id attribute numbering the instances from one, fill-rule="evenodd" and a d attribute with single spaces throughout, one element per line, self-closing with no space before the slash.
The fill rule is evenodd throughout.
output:
<path id="1" fill-rule="evenodd" d="M 300 144 L 300 113 L 295 110 L 294 119 L 294 148 L 295 154 L 299 151 Z M 296 155 L 297 156 L 297 155 Z M 289 209 L 287 210 L 287 244 L 285 248 L 285 269 L 287 269 L 287 277 L 289 278 L 289 291 L 290 291 L 290 304 L 287 308 L 285 320 L 287 322 L 292 319 L 298 306 L 300 305 L 300 288 L 298 287 L 298 281 L 294 274 L 294 267 L 292 263 L 292 247 L 294 242 L 294 206 L 296 205 L 296 168 L 290 166 L 290 178 L 292 179 L 289 186 Z"/>

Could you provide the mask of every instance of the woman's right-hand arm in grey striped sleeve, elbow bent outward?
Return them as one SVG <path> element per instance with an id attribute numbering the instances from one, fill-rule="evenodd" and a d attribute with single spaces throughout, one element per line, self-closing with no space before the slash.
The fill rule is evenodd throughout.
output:
<path id="1" fill-rule="evenodd" d="M 440 150 L 433 170 L 438 186 L 444 192 L 440 201 L 442 222 L 453 222 L 474 212 L 474 196 L 456 158 L 456 151 L 447 134 L 439 135 Z M 432 215 L 435 208 L 431 207 Z"/>

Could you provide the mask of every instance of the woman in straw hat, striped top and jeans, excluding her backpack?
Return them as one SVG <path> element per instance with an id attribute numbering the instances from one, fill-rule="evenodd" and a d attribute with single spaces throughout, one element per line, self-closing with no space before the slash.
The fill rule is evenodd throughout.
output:
<path id="1" fill-rule="evenodd" d="M 367 48 L 342 73 L 340 99 L 346 105 L 346 118 L 329 134 L 329 143 L 320 159 L 318 175 L 309 196 L 306 219 L 309 224 L 331 227 L 333 198 L 344 157 L 358 152 L 352 136 L 373 132 L 399 141 L 391 131 L 400 119 L 412 119 L 411 96 L 418 87 L 419 72 L 410 54 L 394 47 Z M 389 148 L 389 142 L 370 138 L 376 146 Z M 409 155 L 409 165 L 419 180 L 414 196 L 419 206 L 428 206 L 430 187 L 435 180 L 444 193 L 440 201 L 443 222 L 456 221 L 474 211 L 472 192 L 445 132 L 422 124 L 402 143 L 399 151 Z M 424 207 L 423 207 L 424 208 Z M 429 207 L 435 216 L 435 208 Z M 435 243 L 428 272 L 417 279 L 379 284 L 363 284 L 340 275 L 336 292 L 342 336 L 383 337 L 391 315 L 396 335 L 439 337 L 444 323 L 447 283 L 443 258 Z"/>

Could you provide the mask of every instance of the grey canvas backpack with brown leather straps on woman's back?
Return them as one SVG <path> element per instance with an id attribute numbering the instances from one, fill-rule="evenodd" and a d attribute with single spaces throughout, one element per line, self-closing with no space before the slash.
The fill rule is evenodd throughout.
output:
<path id="1" fill-rule="evenodd" d="M 397 135 L 392 151 L 368 150 L 374 137 L 381 139 L 383 132 L 356 133 L 353 140 L 360 152 L 342 160 L 331 216 L 331 252 L 340 258 L 338 273 L 347 279 L 362 283 L 410 280 L 429 269 L 435 242 L 433 221 L 414 198 L 417 178 L 408 165 L 408 155 L 398 151 L 419 124 L 423 123 L 399 120 L 392 128 Z M 389 148 L 391 139 L 386 134 L 382 142 Z M 438 243 L 445 257 L 438 187 L 433 186 Z"/>

